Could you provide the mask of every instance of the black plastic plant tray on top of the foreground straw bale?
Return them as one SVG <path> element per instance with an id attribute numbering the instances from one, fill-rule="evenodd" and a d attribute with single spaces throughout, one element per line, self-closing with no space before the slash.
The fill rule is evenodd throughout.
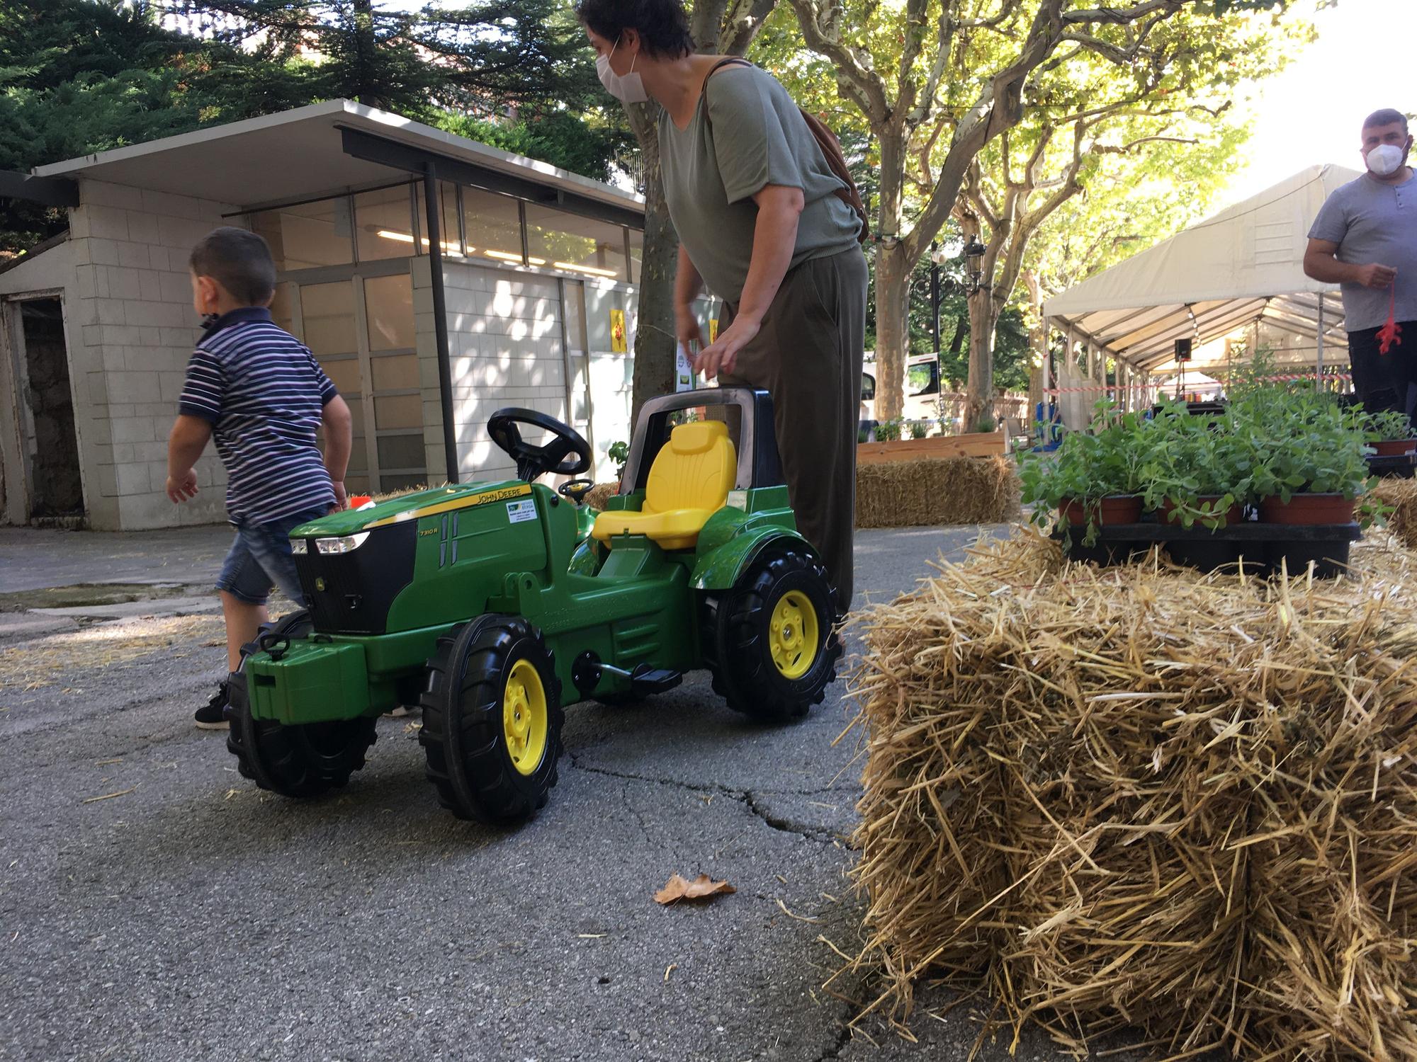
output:
<path id="1" fill-rule="evenodd" d="M 1314 575 L 1332 579 L 1348 565 L 1349 547 L 1363 537 L 1357 524 L 1261 524 L 1247 520 L 1229 524 L 1219 531 L 1207 531 L 1199 524 L 1190 528 L 1148 521 L 1142 524 L 1108 524 L 1097 530 L 1097 542 L 1083 545 L 1084 528 L 1073 528 L 1073 544 L 1067 549 L 1070 561 L 1088 564 L 1125 564 L 1161 542 L 1170 559 L 1203 572 L 1244 569 L 1257 575 L 1272 575 L 1281 565 L 1289 575 L 1302 575 L 1314 564 Z M 1053 537 L 1063 538 L 1061 531 Z"/>

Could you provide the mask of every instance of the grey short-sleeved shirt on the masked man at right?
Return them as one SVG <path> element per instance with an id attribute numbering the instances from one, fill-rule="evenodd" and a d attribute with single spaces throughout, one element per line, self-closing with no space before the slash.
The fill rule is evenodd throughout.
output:
<path id="1" fill-rule="evenodd" d="M 1339 262 L 1377 262 L 1397 270 L 1393 292 L 1342 285 L 1345 329 L 1382 326 L 1394 295 L 1397 320 L 1417 320 L 1417 177 L 1382 184 L 1365 173 L 1335 188 L 1314 219 L 1309 239 L 1338 244 Z"/>

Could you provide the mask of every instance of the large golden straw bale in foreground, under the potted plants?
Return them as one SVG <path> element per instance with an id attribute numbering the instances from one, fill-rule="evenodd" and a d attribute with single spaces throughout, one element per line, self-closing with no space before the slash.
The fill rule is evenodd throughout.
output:
<path id="1" fill-rule="evenodd" d="M 1417 1058 L 1417 600 L 1064 564 L 1032 531 L 859 620 L 867 943 L 1081 1052 Z"/>

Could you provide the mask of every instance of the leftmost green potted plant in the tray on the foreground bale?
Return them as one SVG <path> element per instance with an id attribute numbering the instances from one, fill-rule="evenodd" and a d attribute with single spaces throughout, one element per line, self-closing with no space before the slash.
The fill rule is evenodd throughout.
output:
<path id="1" fill-rule="evenodd" d="M 1081 527 L 1085 545 L 1100 527 L 1141 520 L 1141 470 L 1151 446 L 1151 422 L 1141 413 L 1115 416 L 1100 405 L 1091 430 L 1070 433 L 1053 453 L 1024 455 L 1019 470 L 1033 523 L 1047 527 L 1057 513 L 1064 539 Z"/>

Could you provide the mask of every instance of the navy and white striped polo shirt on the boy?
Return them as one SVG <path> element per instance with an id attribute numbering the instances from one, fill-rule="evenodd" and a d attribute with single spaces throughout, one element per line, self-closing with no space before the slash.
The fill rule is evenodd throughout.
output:
<path id="1" fill-rule="evenodd" d="M 213 426 L 231 523 L 271 524 L 334 504 L 315 432 L 337 394 L 269 310 L 244 306 L 207 327 L 177 409 Z"/>

